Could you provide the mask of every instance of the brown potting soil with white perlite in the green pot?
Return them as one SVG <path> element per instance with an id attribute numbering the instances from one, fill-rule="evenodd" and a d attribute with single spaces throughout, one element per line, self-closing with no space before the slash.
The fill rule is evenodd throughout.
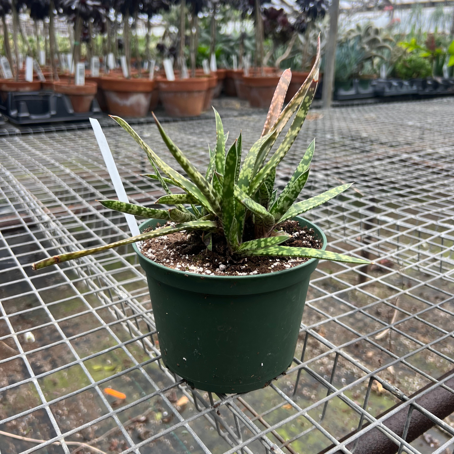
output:
<path id="1" fill-rule="evenodd" d="M 167 223 L 166 226 L 172 225 Z M 161 227 L 159 224 L 157 228 Z M 313 229 L 301 227 L 296 221 L 281 224 L 281 229 L 291 235 L 282 246 L 312 247 L 321 249 L 323 241 L 318 240 Z M 151 229 L 149 229 L 151 230 Z M 189 234 L 185 231 L 172 233 L 141 242 L 142 254 L 160 265 L 179 271 L 215 276 L 246 276 L 272 273 L 301 265 L 309 259 L 304 257 L 232 257 L 225 238 L 214 235 L 212 250 L 207 249 L 202 232 Z M 252 238 L 251 238 L 252 239 Z"/>

